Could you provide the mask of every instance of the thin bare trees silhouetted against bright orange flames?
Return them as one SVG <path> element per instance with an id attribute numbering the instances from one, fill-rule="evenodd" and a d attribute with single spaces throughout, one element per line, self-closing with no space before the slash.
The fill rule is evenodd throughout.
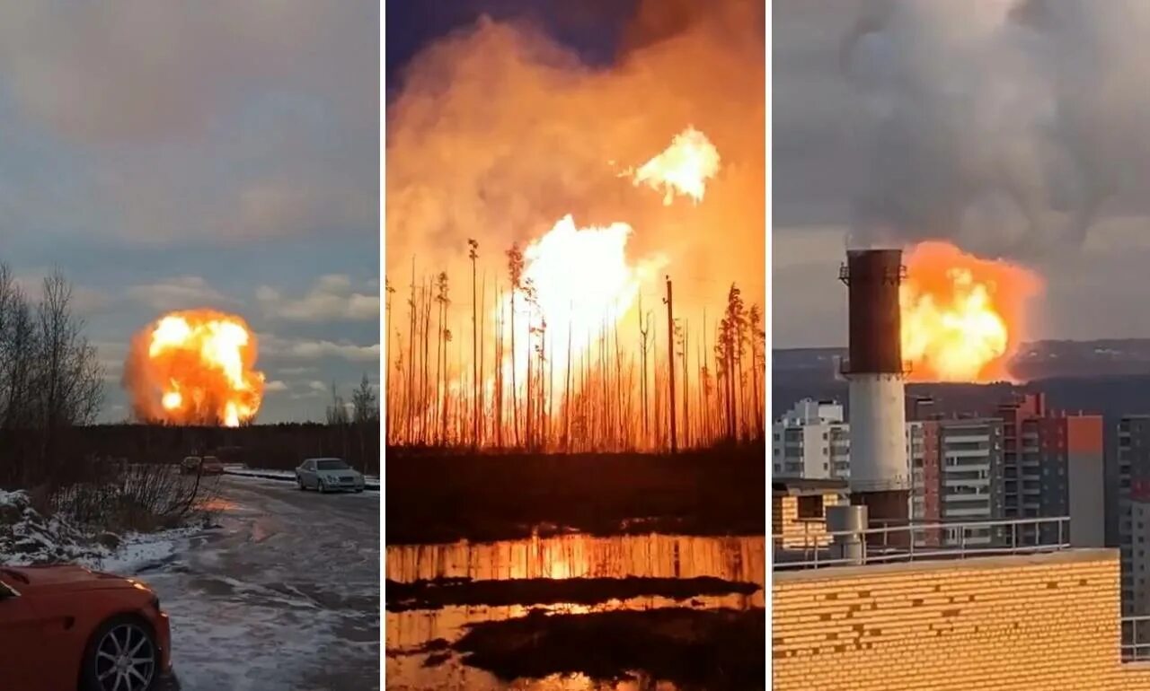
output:
<path id="1" fill-rule="evenodd" d="M 573 343 L 569 328 L 549 332 L 518 246 L 496 277 L 478 275 L 474 240 L 468 256 L 462 298 L 445 272 L 416 277 L 414 261 L 406 295 L 385 280 L 389 445 L 584 452 L 762 441 L 764 313 L 736 285 L 714 316 L 676 312 L 668 324 L 666 304 L 639 296 L 627 317 L 605 316 L 592 340 Z M 455 301 L 466 308 L 450 309 Z"/>

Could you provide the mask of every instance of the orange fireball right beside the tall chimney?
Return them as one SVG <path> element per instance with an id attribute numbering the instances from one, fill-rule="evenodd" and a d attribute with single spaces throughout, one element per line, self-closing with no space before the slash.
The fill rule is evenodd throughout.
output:
<path id="1" fill-rule="evenodd" d="M 1026 326 L 1027 301 L 1042 289 L 1037 274 L 946 242 L 917 244 L 906 267 L 900 302 L 910 379 L 1007 379 L 1006 366 Z"/>

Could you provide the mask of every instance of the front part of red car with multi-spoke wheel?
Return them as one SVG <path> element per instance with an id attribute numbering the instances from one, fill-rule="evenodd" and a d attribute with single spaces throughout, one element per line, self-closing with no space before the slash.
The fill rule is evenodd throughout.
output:
<path id="1" fill-rule="evenodd" d="M 131 579 L 79 566 L 0 567 L 0 670 L 21 691 L 174 684 L 168 615 Z"/>

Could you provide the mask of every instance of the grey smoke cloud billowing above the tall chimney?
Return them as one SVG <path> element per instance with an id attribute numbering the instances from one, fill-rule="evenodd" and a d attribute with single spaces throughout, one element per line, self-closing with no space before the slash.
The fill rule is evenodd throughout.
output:
<path id="1" fill-rule="evenodd" d="M 868 9 L 842 49 L 871 147 L 856 244 L 946 238 L 1034 258 L 1147 192 L 1150 3 Z"/>

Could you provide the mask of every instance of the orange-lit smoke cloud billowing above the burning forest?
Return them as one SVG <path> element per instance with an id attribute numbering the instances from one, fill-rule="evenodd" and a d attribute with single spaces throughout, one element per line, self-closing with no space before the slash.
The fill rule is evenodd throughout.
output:
<path id="1" fill-rule="evenodd" d="M 413 257 L 417 274 L 462 282 L 469 238 L 481 271 L 505 272 L 513 242 L 573 213 L 630 224 L 631 257 L 667 256 L 676 308 L 721 302 L 731 281 L 761 304 L 764 11 L 756 0 L 643 2 L 607 67 L 516 22 L 482 20 L 425 48 L 386 114 L 392 285 L 402 293 Z M 665 207 L 620 177 L 688 125 L 722 156 L 703 203 Z"/>

